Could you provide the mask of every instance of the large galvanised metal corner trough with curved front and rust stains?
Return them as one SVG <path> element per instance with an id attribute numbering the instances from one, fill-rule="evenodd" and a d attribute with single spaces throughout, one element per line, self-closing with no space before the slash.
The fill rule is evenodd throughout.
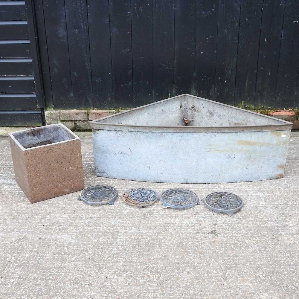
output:
<path id="1" fill-rule="evenodd" d="M 282 178 L 292 125 L 182 94 L 91 121 L 95 175 L 165 183 Z"/>

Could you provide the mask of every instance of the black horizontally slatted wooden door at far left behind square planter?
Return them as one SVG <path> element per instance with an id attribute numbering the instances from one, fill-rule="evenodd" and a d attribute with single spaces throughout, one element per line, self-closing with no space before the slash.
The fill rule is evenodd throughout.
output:
<path id="1" fill-rule="evenodd" d="M 41 126 L 44 97 L 32 0 L 0 1 L 0 126 Z"/>

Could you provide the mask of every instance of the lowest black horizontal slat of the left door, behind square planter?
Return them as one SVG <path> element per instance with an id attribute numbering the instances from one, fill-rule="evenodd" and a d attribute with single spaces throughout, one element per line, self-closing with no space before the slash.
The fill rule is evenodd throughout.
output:
<path id="1" fill-rule="evenodd" d="M 0 126 L 42 126 L 41 111 L 0 111 Z"/>

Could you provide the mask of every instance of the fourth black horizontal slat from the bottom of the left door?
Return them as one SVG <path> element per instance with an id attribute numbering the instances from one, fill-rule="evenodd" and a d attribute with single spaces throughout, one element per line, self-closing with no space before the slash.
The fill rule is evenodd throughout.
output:
<path id="1" fill-rule="evenodd" d="M 0 76 L 33 76 L 32 62 L 2 62 L 0 59 Z"/>

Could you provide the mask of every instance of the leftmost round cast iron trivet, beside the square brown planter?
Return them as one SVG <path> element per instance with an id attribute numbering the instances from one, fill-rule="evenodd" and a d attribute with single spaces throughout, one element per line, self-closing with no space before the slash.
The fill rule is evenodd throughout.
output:
<path id="1" fill-rule="evenodd" d="M 114 187 L 97 185 L 83 189 L 78 199 L 89 205 L 114 205 L 118 192 Z"/>

